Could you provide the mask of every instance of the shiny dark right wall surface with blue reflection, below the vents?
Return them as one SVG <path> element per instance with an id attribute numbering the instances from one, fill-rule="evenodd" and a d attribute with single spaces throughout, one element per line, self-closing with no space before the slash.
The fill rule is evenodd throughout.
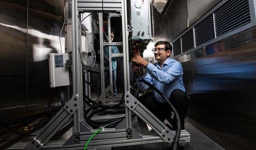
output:
<path id="1" fill-rule="evenodd" d="M 182 62 L 190 96 L 187 120 L 226 149 L 256 146 L 254 33 L 248 29 L 207 45 Z"/>

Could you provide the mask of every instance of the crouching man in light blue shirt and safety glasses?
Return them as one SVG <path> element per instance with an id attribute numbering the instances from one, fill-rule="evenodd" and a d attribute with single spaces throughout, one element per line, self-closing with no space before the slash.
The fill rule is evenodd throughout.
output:
<path id="1" fill-rule="evenodd" d="M 172 53 L 172 45 L 168 41 L 158 41 L 155 48 L 152 49 L 155 53 L 157 62 L 152 64 L 140 55 L 134 55 L 132 58 L 133 70 L 135 72 L 136 80 L 141 79 L 140 66 L 143 66 L 147 73 L 145 80 L 158 88 L 173 104 L 179 113 L 181 120 L 181 129 L 184 129 L 184 119 L 186 117 L 188 108 L 188 97 L 183 84 L 183 69 L 179 61 L 170 58 Z M 143 82 L 138 83 L 141 90 L 149 88 Z M 140 102 L 146 106 L 156 117 L 162 122 L 165 118 L 170 117 L 172 108 L 166 103 L 156 91 L 154 93 L 148 92 L 138 98 Z M 177 122 L 174 119 L 172 129 L 177 129 Z"/>

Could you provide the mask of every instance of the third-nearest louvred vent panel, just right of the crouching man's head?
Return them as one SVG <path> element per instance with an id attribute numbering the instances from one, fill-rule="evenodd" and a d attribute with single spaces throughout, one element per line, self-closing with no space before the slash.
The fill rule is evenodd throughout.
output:
<path id="1" fill-rule="evenodd" d="M 190 29 L 184 35 L 181 36 L 182 52 L 188 51 L 194 48 L 193 30 Z"/>

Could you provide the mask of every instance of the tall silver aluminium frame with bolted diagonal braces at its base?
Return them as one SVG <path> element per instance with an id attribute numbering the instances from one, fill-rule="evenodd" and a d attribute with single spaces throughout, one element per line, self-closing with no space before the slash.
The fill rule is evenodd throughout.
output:
<path id="1" fill-rule="evenodd" d="M 126 1 L 115 0 L 114 4 L 112 0 L 104 0 L 100 3 L 101 7 L 98 7 L 96 1 L 90 0 L 72 0 L 72 78 L 73 78 L 73 95 L 70 100 L 61 108 L 61 110 L 51 119 L 51 121 L 40 130 L 40 132 L 26 145 L 25 149 L 81 149 L 86 142 L 89 141 L 90 135 L 97 130 L 88 124 L 84 119 L 84 111 L 88 109 L 88 106 L 92 106 L 93 101 L 89 101 L 86 106 L 84 101 L 90 99 L 90 87 L 88 82 L 84 82 L 83 75 L 89 78 L 90 71 L 83 71 L 83 64 L 81 63 L 81 36 L 82 29 L 79 22 L 81 21 L 80 12 L 84 11 L 97 11 L 99 31 L 99 51 L 100 51 L 100 74 L 101 74 L 101 89 L 105 90 L 104 85 L 104 56 L 103 47 L 119 45 L 122 47 L 122 52 L 117 54 L 110 53 L 110 57 L 117 56 L 123 58 L 123 94 L 112 100 L 106 99 L 105 92 L 101 93 L 102 104 L 116 105 L 120 100 L 123 100 L 122 106 L 124 112 L 122 114 L 106 115 L 97 117 L 96 120 L 106 120 L 109 118 L 116 118 L 118 124 L 112 128 L 106 128 L 103 126 L 103 130 L 99 132 L 89 143 L 90 148 L 102 148 L 111 146 L 121 146 L 130 144 L 152 143 L 152 142 L 172 142 L 175 131 L 171 131 L 163 122 L 156 118 L 146 107 L 144 107 L 131 93 L 130 93 L 130 70 L 129 70 L 129 31 L 127 30 L 127 11 Z M 91 7 L 86 7 L 90 5 Z M 94 7 L 95 6 L 95 7 Z M 137 5 L 138 6 L 138 5 Z M 117 13 L 121 17 L 121 41 L 110 42 L 104 40 L 103 28 L 103 13 L 104 11 L 111 13 Z M 109 20 L 108 23 L 109 24 Z M 110 26 L 108 26 L 108 33 L 110 33 Z M 149 38 L 149 37 L 148 37 Z M 110 34 L 108 38 L 110 39 Z M 137 40 L 138 41 L 138 40 Z M 145 45 L 139 42 L 135 42 L 135 45 L 143 49 Z M 142 46 L 142 47 L 141 47 Z M 94 49 L 95 50 L 95 49 Z M 94 53 L 96 55 L 96 53 Z M 110 63 L 111 64 L 111 63 Z M 109 65 L 110 65 L 109 64 Z M 93 68 L 92 64 L 92 68 Z M 87 68 L 88 69 L 88 68 Z M 110 79 L 111 81 L 111 79 Z M 111 87 L 110 87 L 111 88 Z M 111 90 L 111 89 L 110 89 Z M 119 98 L 119 99 L 118 99 Z M 100 102 L 100 101 L 98 101 Z M 119 103 L 118 103 L 119 104 Z M 132 112 L 141 117 L 146 123 L 148 123 L 158 135 L 144 136 L 136 131 L 132 126 Z M 53 141 L 49 142 L 49 139 L 68 121 L 73 118 L 74 134 L 67 141 Z M 180 142 L 189 142 L 189 133 L 183 130 L 180 136 Z"/>

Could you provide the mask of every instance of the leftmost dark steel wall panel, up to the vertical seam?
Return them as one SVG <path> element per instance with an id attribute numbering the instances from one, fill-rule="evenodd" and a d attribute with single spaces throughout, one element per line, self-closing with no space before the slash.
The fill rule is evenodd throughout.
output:
<path id="1" fill-rule="evenodd" d="M 12 127 L 14 122 L 26 122 L 26 111 L 17 113 L 21 107 L 26 110 L 26 3 L 0 4 L 0 120 Z M 8 131 L 0 125 L 1 135 Z"/>

